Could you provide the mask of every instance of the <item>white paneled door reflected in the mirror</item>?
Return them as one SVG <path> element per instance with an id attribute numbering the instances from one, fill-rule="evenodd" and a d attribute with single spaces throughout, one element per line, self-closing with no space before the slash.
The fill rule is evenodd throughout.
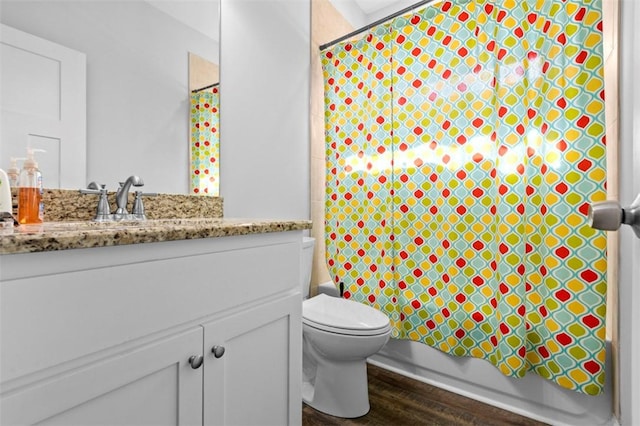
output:
<path id="1" fill-rule="evenodd" d="M 86 185 L 86 55 L 2 25 L 0 168 L 36 159 L 45 188 Z M 22 163 L 18 162 L 18 167 Z"/>

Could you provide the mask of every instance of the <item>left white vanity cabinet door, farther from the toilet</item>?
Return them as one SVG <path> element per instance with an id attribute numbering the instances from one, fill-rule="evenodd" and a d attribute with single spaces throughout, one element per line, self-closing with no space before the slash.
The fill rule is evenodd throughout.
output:
<path id="1" fill-rule="evenodd" d="M 44 348 L 43 348 L 44 349 Z M 201 425 L 202 327 L 2 396 L 2 424 Z"/>

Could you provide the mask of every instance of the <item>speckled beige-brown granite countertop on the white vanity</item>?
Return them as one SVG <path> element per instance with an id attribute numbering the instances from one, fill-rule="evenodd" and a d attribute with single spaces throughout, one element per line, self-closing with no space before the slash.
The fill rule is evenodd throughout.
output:
<path id="1" fill-rule="evenodd" d="M 142 222 L 45 222 L 0 235 L 0 254 L 36 253 L 159 241 L 311 229 L 308 220 L 153 219 Z"/>

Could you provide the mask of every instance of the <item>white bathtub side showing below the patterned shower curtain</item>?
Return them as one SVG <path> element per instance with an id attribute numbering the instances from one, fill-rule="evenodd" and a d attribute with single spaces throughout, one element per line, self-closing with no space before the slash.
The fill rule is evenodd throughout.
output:
<path id="1" fill-rule="evenodd" d="M 489 362 L 447 355 L 422 343 L 390 339 L 369 362 L 469 398 L 553 425 L 617 425 L 612 414 L 611 374 L 598 396 L 561 388 L 528 373 L 504 376 Z M 607 342 L 606 371 L 611 368 Z"/>

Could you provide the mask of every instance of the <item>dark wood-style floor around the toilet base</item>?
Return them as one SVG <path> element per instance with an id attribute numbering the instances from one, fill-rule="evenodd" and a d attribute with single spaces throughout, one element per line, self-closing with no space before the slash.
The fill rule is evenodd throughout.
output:
<path id="1" fill-rule="evenodd" d="M 371 364 L 367 367 L 371 404 L 367 415 L 341 419 L 304 404 L 302 425 L 544 425 Z"/>

